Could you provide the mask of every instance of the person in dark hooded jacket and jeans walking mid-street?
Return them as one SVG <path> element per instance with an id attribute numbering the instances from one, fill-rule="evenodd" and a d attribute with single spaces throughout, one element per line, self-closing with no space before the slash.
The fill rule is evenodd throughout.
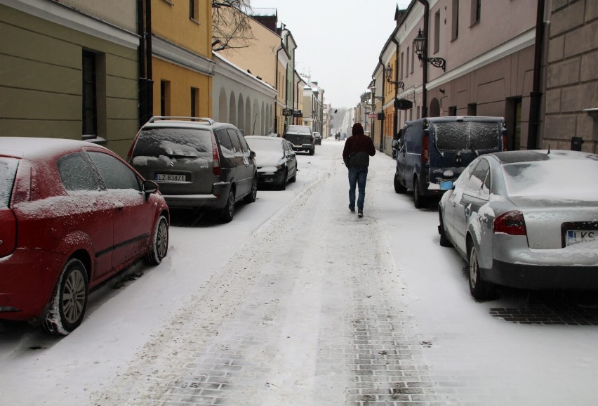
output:
<path id="1" fill-rule="evenodd" d="M 357 197 L 357 216 L 364 216 L 364 202 L 366 200 L 366 181 L 370 157 L 376 155 L 371 138 L 364 134 L 361 123 L 353 124 L 351 136 L 345 142 L 343 161 L 349 169 L 349 210 L 355 212 L 355 188 L 359 189 Z"/>

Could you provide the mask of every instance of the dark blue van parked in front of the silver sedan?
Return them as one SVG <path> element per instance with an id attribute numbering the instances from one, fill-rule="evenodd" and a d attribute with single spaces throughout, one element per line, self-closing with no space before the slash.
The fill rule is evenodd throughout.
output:
<path id="1" fill-rule="evenodd" d="M 413 190 L 413 204 L 424 207 L 439 197 L 440 183 L 456 181 L 477 156 L 506 149 L 502 117 L 448 116 L 406 122 L 392 142 L 397 170 L 394 191 Z"/>

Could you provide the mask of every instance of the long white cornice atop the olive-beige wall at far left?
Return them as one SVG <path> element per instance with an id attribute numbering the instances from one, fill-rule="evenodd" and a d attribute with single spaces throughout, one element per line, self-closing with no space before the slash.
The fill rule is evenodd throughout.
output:
<path id="1" fill-rule="evenodd" d="M 0 4 L 126 48 L 137 49 L 139 46 L 137 34 L 55 1 L 0 0 Z"/>

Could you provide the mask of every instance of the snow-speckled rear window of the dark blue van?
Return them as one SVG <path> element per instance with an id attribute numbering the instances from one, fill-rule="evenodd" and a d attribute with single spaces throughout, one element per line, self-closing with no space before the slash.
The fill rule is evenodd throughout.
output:
<path id="1" fill-rule="evenodd" d="M 434 123 L 436 148 L 449 151 L 498 151 L 502 129 L 498 122 Z"/>

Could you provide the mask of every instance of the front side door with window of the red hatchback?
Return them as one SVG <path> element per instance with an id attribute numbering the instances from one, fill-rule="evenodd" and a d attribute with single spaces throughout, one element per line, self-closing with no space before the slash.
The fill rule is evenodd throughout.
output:
<path id="1" fill-rule="evenodd" d="M 145 199 L 141 179 L 124 162 L 105 152 L 89 152 L 107 188 L 114 215 L 112 266 L 121 266 L 147 248 L 155 209 Z"/>

